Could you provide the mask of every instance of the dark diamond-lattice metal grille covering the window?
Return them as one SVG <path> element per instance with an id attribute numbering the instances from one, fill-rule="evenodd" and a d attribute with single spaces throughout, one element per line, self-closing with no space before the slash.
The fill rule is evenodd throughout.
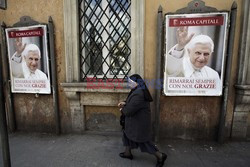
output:
<path id="1" fill-rule="evenodd" d="M 81 80 L 130 72 L 130 0 L 79 0 Z"/>

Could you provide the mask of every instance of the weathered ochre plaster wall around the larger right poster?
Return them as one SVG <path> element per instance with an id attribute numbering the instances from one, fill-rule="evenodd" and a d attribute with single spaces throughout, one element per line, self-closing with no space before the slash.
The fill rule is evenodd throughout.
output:
<path id="1" fill-rule="evenodd" d="M 163 13 L 175 12 L 186 7 L 190 0 L 146 1 L 145 16 L 145 78 L 153 79 L 156 75 L 157 53 L 157 11 L 159 5 Z M 233 53 L 232 75 L 229 85 L 229 101 L 226 116 L 226 136 L 229 137 L 233 118 L 234 83 L 238 61 L 241 0 L 238 4 L 236 36 Z M 206 0 L 207 6 L 218 10 L 230 10 L 233 0 Z M 150 67 L 150 68 L 148 68 Z M 151 89 L 151 92 L 153 90 Z M 160 137 L 178 137 L 185 139 L 215 139 L 218 133 L 221 112 L 220 97 L 161 97 Z"/>

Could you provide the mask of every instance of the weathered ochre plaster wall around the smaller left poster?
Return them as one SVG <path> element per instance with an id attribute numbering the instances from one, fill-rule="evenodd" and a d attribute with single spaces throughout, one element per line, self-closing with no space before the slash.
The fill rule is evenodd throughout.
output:
<path id="1" fill-rule="evenodd" d="M 7 10 L 0 10 L 0 21 L 7 26 L 18 22 L 22 16 L 48 23 L 52 17 L 55 26 L 55 49 L 59 86 L 59 109 L 62 118 L 62 130 L 70 131 L 70 114 L 67 113 L 67 101 L 60 87 L 65 80 L 63 3 L 61 0 L 8 0 Z M 14 109 L 17 129 L 27 131 L 53 132 L 55 130 L 52 95 L 14 94 Z"/>

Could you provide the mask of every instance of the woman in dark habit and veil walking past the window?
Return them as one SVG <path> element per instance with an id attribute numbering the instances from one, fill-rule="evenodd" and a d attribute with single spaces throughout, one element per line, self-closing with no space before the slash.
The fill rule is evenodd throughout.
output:
<path id="1" fill-rule="evenodd" d="M 147 152 L 156 157 L 156 167 L 162 167 L 167 159 L 167 155 L 160 152 L 151 141 L 150 102 L 153 99 L 140 75 L 134 74 L 130 76 L 128 84 L 131 91 L 126 101 L 118 104 L 122 117 L 124 116 L 125 118 L 122 138 L 125 151 L 119 155 L 121 158 L 132 160 L 131 150 L 139 147 L 141 152 Z"/>

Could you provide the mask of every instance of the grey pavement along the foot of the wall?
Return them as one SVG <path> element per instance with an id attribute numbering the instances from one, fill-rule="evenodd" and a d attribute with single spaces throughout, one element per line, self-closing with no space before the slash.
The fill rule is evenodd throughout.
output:
<path id="1" fill-rule="evenodd" d="M 154 167 L 156 159 L 133 150 L 123 151 L 120 135 L 61 135 L 15 133 L 9 136 L 12 167 Z M 248 167 L 250 142 L 192 142 L 166 140 L 158 145 L 168 154 L 168 167 Z M 1 149 L 0 149 L 1 150 Z M 2 152 L 0 166 L 3 166 Z"/>

